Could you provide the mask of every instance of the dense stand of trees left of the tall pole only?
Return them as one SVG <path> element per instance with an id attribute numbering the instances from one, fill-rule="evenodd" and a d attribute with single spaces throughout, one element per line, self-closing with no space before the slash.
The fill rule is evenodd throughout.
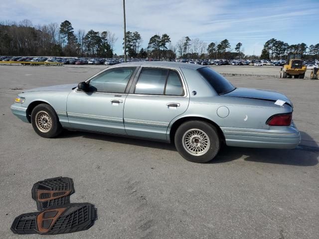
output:
<path id="1" fill-rule="evenodd" d="M 111 31 L 74 32 L 68 20 L 36 26 L 27 19 L 0 22 L 0 55 L 112 57 L 116 40 Z"/>

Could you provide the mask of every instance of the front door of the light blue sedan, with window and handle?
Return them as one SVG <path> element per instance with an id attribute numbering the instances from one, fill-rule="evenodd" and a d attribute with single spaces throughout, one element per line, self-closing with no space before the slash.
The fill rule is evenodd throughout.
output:
<path id="1" fill-rule="evenodd" d="M 72 128 L 126 134 L 123 109 L 126 88 L 136 67 L 108 69 L 92 79 L 86 92 L 79 89 L 67 99 L 67 115 Z"/>

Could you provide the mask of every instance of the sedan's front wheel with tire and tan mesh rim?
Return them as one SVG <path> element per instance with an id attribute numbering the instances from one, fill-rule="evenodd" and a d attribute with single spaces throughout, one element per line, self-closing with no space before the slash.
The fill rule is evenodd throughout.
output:
<path id="1" fill-rule="evenodd" d="M 31 113 L 34 131 L 44 138 L 53 138 L 62 132 L 62 125 L 54 109 L 47 104 L 34 107 Z"/>

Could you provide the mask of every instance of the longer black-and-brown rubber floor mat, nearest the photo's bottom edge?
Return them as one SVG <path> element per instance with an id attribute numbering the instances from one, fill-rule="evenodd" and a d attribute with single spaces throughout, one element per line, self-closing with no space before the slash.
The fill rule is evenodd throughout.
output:
<path id="1" fill-rule="evenodd" d="M 11 231 L 15 234 L 54 235 L 89 229 L 97 220 L 97 211 L 90 203 L 71 203 L 42 212 L 16 217 Z"/>

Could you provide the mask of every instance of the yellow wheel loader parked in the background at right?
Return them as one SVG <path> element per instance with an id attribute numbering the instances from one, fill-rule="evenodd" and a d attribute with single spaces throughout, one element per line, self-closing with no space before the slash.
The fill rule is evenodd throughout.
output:
<path id="1" fill-rule="evenodd" d="M 307 66 L 303 62 L 303 53 L 290 52 L 285 65 L 280 69 L 279 78 L 299 78 L 304 79 Z"/>

